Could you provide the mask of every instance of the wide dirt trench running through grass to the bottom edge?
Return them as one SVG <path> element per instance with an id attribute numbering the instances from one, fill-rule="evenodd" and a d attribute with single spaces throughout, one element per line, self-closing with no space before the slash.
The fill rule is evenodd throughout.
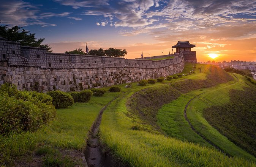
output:
<path id="1" fill-rule="evenodd" d="M 102 152 L 102 149 L 99 145 L 97 134 L 100 128 L 103 111 L 116 98 L 117 97 L 115 97 L 112 101 L 110 101 L 107 105 L 105 105 L 100 110 L 98 117 L 93 122 L 92 127 L 90 128 L 88 141 L 87 141 L 87 148 L 86 150 L 84 150 L 84 156 L 85 156 L 88 167 L 115 166 L 112 164 L 112 157 L 109 154 Z"/>

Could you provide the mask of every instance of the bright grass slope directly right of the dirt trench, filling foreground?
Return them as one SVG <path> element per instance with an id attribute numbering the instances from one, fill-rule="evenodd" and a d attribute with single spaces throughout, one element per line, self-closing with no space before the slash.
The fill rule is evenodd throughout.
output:
<path id="1" fill-rule="evenodd" d="M 144 88 L 149 87 L 152 85 Z M 214 148 L 144 130 L 133 130 L 141 120 L 130 117 L 131 113 L 127 111 L 126 103 L 128 97 L 140 89 L 130 89 L 109 105 L 104 111 L 100 126 L 101 141 L 125 162 L 132 166 L 255 165 L 243 158 L 228 158 Z"/>

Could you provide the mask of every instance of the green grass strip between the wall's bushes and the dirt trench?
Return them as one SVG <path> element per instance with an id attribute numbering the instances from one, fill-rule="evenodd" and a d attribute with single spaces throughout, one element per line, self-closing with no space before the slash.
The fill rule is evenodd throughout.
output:
<path id="1" fill-rule="evenodd" d="M 58 109 L 57 118 L 34 133 L 1 136 L 0 164 L 10 164 L 16 156 L 29 156 L 31 151 L 41 146 L 81 150 L 99 111 L 118 94 L 105 93 L 103 97 L 93 96 L 88 103 L 75 103 L 73 107 Z"/>

